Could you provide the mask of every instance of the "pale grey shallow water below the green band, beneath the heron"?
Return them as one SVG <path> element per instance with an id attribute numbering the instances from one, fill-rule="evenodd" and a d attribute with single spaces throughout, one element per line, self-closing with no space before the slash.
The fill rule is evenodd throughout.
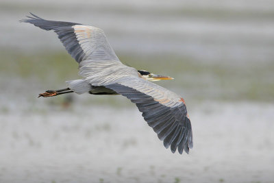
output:
<path id="1" fill-rule="evenodd" d="M 272 103 L 188 99 L 194 147 L 179 155 L 121 96 L 34 93 L 1 95 L 0 182 L 273 181 Z"/>

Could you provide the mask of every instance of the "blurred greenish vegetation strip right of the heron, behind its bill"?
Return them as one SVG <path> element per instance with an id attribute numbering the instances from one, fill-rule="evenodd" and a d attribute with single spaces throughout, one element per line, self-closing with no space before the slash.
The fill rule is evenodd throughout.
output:
<path id="1" fill-rule="evenodd" d="M 174 77 L 174 81 L 161 82 L 161 85 L 182 88 L 198 100 L 274 100 L 274 62 L 232 64 L 229 60 L 220 60 L 210 63 L 175 56 L 119 58 L 136 69 Z"/>

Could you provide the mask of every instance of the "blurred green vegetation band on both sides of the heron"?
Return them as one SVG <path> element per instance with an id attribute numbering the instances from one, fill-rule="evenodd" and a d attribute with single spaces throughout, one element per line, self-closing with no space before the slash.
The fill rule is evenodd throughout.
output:
<path id="1" fill-rule="evenodd" d="M 123 63 L 136 69 L 169 75 L 175 80 L 158 82 L 182 96 L 200 100 L 273 101 L 274 62 L 238 63 L 220 60 L 219 63 L 201 62 L 176 56 L 136 56 L 120 54 Z M 45 53 L 1 52 L 1 77 L 36 78 L 44 86 L 66 86 L 64 81 L 81 78 L 78 64 L 65 51 Z M 116 98 L 98 97 L 99 103 L 116 103 Z M 116 103 L 117 104 L 117 103 Z"/>

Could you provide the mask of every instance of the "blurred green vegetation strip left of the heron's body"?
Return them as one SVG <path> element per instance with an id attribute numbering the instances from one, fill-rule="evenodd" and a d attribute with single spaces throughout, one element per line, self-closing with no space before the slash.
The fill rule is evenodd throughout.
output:
<path id="1" fill-rule="evenodd" d="M 5 51 L 1 53 L 0 71 L 7 76 L 60 82 L 64 78 L 77 77 L 77 66 L 77 62 L 64 52 L 32 54 Z"/>

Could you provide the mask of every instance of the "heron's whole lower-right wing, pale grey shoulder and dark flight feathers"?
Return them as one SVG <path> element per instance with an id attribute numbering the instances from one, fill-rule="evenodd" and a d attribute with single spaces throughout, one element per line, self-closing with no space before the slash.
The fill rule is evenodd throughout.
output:
<path id="1" fill-rule="evenodd" d="M 179 154 L 183 150 L 188 153 L 192 148 L 191 123 L 184 99 L 179 95 L 138 77 L 129 77 L 105 87 L 136 103 L 142 117 L 164 141 L 164 147 L 171 146 L 173 153 L 178 149 Z"/>

